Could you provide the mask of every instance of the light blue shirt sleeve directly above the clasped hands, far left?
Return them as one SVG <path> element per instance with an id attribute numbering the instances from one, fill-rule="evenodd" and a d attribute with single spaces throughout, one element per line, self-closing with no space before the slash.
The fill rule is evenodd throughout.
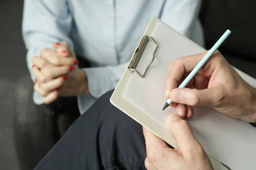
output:
<path id="1" fill-rule="evenodd" d="M 24 0 L 22 36 L 26 46 L 26 62 L 32 74 L 32 57 L 40 56 L 44 48 L 54 42 L 66 41 L 73 49 L 68 37 L 72 23 L 66 0 Z"/>

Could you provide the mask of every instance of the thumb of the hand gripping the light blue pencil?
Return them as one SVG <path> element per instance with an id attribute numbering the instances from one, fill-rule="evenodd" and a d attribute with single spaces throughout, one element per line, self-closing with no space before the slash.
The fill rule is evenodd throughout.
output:
<path id="1" fill-rule="evenodd" d="M 170 99 L 176 103 L 182 103 L 189 106 L 208 106 L 214 107 L 218 102 L 220 93 L 216 88 L 207 88 L 204 90 L 190 88 L 175 88 L 170 94 Z"/>

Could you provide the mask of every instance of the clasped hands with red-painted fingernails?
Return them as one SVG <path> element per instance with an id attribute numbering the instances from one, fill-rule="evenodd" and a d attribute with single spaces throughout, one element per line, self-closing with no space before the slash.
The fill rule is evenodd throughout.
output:
<path id="1" fill-rule="evenodd" d="M 55 51 L 45 48 L 40 57 L 33 57 L 35 91 L 49 104 L 58 96 L 88 94 L 86 74 L 79 70 L 76 54 L 66 42 L 55 43 Z"/>

